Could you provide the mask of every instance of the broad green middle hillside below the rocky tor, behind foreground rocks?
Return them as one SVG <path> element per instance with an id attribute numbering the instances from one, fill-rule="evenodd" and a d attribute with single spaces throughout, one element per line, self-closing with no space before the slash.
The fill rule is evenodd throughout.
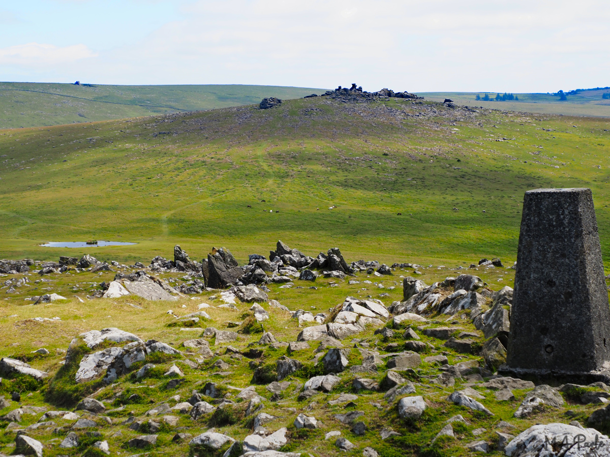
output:
<path id="1" fill-rule="evenodd" d="M 81 255 L 37 245 L 102 239 L 138 244 L 87 252 L 149 261 L 224 245 L 243 261 L 282 239 L 350 260 L 509 262 L 526 190 L 587 186 L 607 258 L 609 145 L 605 119 L 329 97 L 5 130 L 0 257 Z"/>

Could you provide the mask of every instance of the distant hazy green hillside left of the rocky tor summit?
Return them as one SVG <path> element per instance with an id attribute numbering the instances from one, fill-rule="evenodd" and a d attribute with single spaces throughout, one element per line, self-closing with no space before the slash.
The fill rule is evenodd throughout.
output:
<path id="1" fill-rule="evenodd" d="M 0 82 L 0 129 L 57 126 L 300 98 L 321 89 L 248 85 L 113 86 Z"/>

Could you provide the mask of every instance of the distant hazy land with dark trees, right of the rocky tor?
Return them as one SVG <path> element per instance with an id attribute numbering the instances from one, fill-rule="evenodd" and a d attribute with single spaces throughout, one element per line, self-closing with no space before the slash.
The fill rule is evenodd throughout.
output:
<path id="1" fill-rule="evenodd" d="M 559 96 L 553 94 L 523 93 L 515 94 L 519 101 L 480 101 L 476 100 L 477 94 L 481 97 L 486 92 L 427 92 L 418 93 L 426 100 L 442 102 L 450 98 L 460 105 L 470 107 L 484 107 L 496 110 L 509 110 L 517 112 L 556 114 L 566 116 L 592 116 L 600 118 L 610 117 L 610 100 L 603 99 L 603 93 L 610 90 L 585 90 L 567 96 L 566 101 L 559 101 Z M 487 92 L 490 97 L 495 97 L 496 92 Z"/>

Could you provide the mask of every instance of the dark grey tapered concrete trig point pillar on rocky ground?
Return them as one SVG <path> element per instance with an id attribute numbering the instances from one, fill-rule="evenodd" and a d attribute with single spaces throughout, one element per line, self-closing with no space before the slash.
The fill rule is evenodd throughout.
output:
<path id="1" fill-rule="evenodd" d="M 600 376 L 610 308 L 590 189 L 525 193 L 503 372 Z"/>

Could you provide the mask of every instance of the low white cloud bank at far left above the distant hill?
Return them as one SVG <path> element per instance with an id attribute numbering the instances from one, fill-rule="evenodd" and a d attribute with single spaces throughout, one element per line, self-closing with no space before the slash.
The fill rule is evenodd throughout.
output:
<path id="1" fill-rule="evenodd" d="M 27 43 L 0 48 L 0 64 L 40 66 L 71 63 L 97 54 L 85 46 L 74 44 L 60 48 L 53 44 Z"/>

